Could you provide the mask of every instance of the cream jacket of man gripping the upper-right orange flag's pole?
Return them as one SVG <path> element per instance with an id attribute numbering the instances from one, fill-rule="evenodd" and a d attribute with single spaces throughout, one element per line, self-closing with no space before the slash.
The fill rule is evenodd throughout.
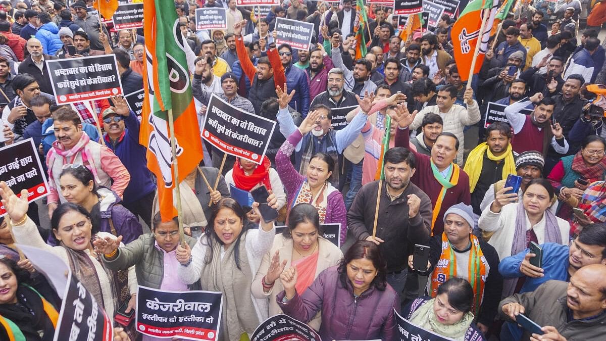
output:
<path id="1" fill-rule="evenodd" d="M 456 157 L 456 163 L 458 163 L 459 166 L 463 166 L 463 150 L 465 146 L 463 129 L 465 129 L 465 126 L 471 126 L 471 124 L 478 123 L 480 120 L 481 115 L 478 102 L 474 100 L 473 104 L 467 105 L 467 109 L 465 109 L 464 106 L 459 106 L 459 104 L 453 104 L 448 112 L 440 112 L 438 106 L 425 107 L 425 109 L 421 110 L 415 116 L 415 120 L 410 124 L 410 129 L 413 130 L 420 127 L 423 123 L 423 118 L 428 113 L 437 113 L 440 115 L 444 121 L 442 131 L 453 133 L 459 139 L 459 151 Z"/>

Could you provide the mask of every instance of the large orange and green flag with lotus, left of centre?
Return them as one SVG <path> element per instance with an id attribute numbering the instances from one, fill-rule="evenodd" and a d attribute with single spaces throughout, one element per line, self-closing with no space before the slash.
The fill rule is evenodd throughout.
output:
<path id="1" fill-rule="evenodd" d="M 139 143 L 147 147 L 147 167 L 158 177 L 162 221 L 168 221 L 176 216 L 168 110 L 173 113 L 180 180 L 202 160 L 202 143 L 191 93 L 189 46 L 179 29 L 175 4 L 168 0 L 145 1 L 143 13 L 145 97 Z"/>

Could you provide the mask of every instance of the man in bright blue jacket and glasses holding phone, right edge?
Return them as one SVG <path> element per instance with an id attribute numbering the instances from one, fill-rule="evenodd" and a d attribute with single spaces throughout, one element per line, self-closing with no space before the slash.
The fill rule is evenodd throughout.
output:
<path id="1" fill-rule="evenodd" d="M 603 223 L 585 226 L 569 245 L 544 243 L 539 245 L 542 255 L 525 249 L 516 255 L 505 257 L 499 264 L 499 272 L 505 278 L 524 278 L 520 294 L 531 292 L 548 280 L 568 282 L 583 266 L 606 265 L 606 225 Z M 541 257 L 541 267 L 535 258 Z M 501 340 L 519 340 L 522 329 L 507 322 L 501 329 Z"/>

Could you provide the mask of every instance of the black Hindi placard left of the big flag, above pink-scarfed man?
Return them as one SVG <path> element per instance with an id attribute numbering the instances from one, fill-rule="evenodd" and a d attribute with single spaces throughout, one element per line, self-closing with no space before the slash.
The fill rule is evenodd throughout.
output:
<path id="1" fill-rule="evenodd" d="M 47 60 L 57 104 L 122 95 L 115 55 Z"/>

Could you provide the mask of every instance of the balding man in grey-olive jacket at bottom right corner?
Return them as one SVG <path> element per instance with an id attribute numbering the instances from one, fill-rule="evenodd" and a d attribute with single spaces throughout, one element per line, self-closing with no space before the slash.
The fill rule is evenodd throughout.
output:
<path id="1" fill-rule="evenodd" d="M 522 340 L 602 341 L 606 335 L 606 266 L 591 264 L 574 272 L 570 282 L 550 280 L 534 291 L 514 294 L 499 303 L 499 314 L 511 322 L 519 314 L 545 333 L 524 331 Z"/>

